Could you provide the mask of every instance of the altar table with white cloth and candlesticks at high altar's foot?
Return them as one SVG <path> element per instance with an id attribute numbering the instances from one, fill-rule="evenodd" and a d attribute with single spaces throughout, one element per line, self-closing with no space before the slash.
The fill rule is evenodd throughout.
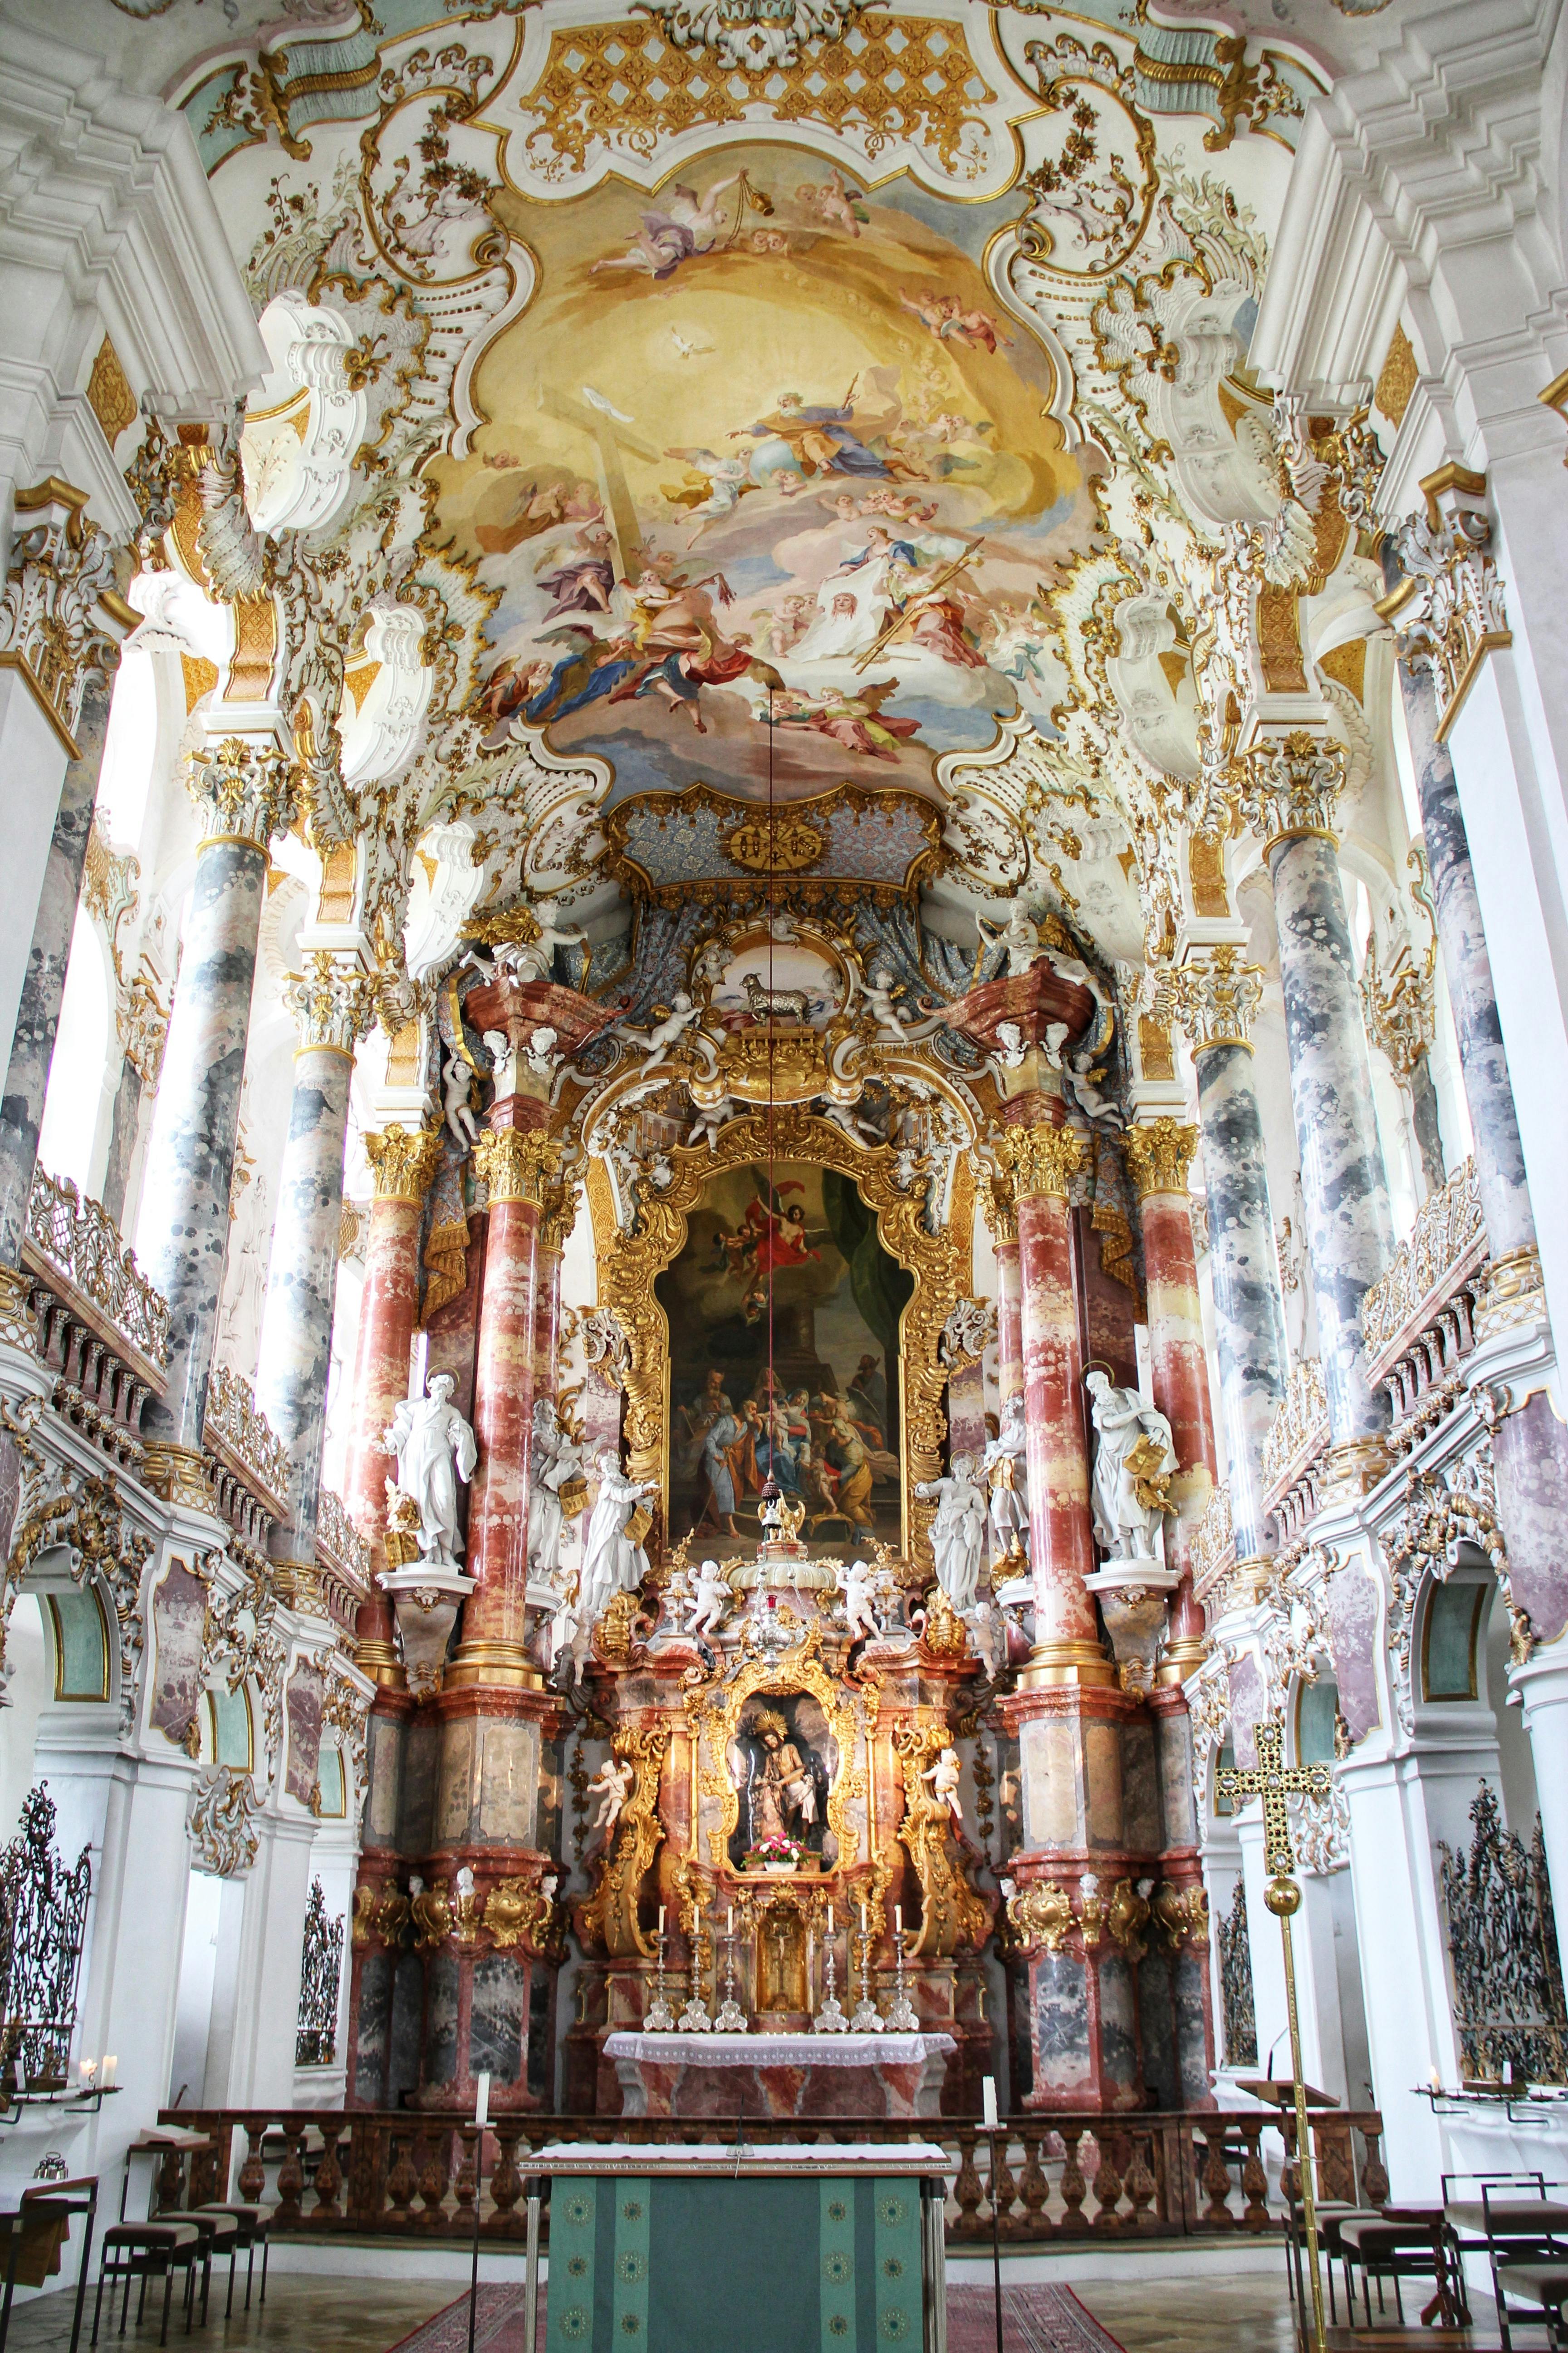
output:
<path id="1" fill-rule="evenodd" d="M 609 2035 L 623 2115 L 943 2113 L 952 2035 Z"/>

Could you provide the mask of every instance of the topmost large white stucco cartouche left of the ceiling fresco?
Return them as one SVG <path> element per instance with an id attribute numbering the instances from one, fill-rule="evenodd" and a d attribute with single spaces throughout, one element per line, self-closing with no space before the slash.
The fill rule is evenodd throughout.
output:
<path id="1" fill-rule="evenodd" d="M 289 287 L 261 313 L 268 374 L 247 405 L 244 504 L 259 532 L 336 522 L 353 489 L 367 395 L 355 391 L 355 334 L 336 311 Z"/>

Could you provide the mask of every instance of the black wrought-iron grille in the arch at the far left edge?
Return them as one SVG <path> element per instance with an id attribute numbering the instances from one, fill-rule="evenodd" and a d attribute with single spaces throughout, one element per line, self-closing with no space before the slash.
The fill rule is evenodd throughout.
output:
<path id="1" fill-rule="evenodd" d="M 5 2068 L 19 2068 L 28 2085 L 66 2075 L 89 1894 L 89 1849 L 66 1871 L 54 1849 L 54 1800 L 40 1784 L 24 1798 L 21 1826 L 0 1854 Z"/>

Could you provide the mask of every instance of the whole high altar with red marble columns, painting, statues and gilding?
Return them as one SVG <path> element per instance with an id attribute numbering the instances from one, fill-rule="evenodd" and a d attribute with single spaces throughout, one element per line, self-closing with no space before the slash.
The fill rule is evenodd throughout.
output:
<path id="1" fill-rule="evenodd" d="M 599 2115 L 976 2113 L 999 2068 L 1016 2106 L 1201 2101 L 1180 1400 L 1187 1459 L 1140 1438 L 1124 1480 L 1157 1537 L 1091 1541 L 1084 1367 L 1147 1402 L 1095 1235 L 1126 1259 L 1124 1176 L 1060 1085 L 1063 1035 L 1126 1052 L 1110 998 L 1016 915 L 943 1059 L 827 911 L 686 934 L 632 1052 L 557 981 L 454 993 L 498 1078 L 425 1372 L 480 1466 L 468 1572 L 386 1480 L 355 2097 L 461 2108 L 487 2068 L 548 2106 L 562 2040 Z M 1175 1174 L 1126 1153 L 1145 1202 L 1185 1134 Z"/>

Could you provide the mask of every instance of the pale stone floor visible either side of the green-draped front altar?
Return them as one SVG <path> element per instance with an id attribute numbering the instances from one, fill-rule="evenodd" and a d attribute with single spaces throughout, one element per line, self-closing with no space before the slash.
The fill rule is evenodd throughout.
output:
<path id="1" fill-rule="evenodd" d="M 1095 2320 L 1117 2337 L 1126 2353 L 1291 2353 L 1295 2339 L 1291 2329 L 1291 2306 L 1284 2280 L 1227 2278 L 1215 2266 L 1213 2278 L 1201 2280 L 1126 2280 L 1079 2282 Z M 190 2344 L 205 2353 L 212 2348 L 289 2348 L 289 2353 L 388 2353 L 411 2329 L 454 2301 L 454 2287 L 444 2282 L 421 2285 L 418 2280 L 299 2280 L 273 2273 L 266 2308 L 252 2306 L 249 2315 L 235 2308 L 233 2320 L 223 2320 L 223 2299 L 212 2299 L 212 2322 L 197 2329 Z M 134 2297 L 132 2297 L 134 2322 Z M 92 2329 L 92 2297 L 87 2299 L 87 2322 L 82 2346 Z M 118 2339 L 108 2311 L 103 2318 L 101 2348 L 125 2341 L 139 2346 L 158 2344 L 158 2311 L 148 2294 L 148 2318 L 136 2334 L 134 2325 Z M 179 2318 L 169 2325 L 169 2346 L 186 2341 Z M 1455 2346 L 1455 2339 L 1443 2339 Z M 71 2344 L 71 2297 L 38 2297 L 12 2315 L 9 2344 L 16 2353 L 63 2353 Z M 1375 2339 L 1368 2339 L 1375 2344 Z M 1382 2339 L 1389 2346 L 1389 2339 Z"/>

